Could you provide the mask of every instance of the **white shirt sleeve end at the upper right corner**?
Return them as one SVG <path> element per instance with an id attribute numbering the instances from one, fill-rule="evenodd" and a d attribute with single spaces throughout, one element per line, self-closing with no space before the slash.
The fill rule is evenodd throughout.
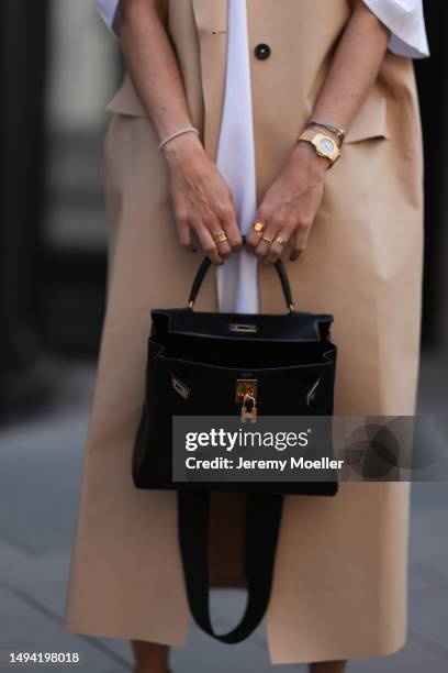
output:
<path id="1" fill-rule="evenodd" d="M 363 0 L 363 3 L 391 31 L 389 48 L 408 58 L 429 56 L 423 0 Z"/>

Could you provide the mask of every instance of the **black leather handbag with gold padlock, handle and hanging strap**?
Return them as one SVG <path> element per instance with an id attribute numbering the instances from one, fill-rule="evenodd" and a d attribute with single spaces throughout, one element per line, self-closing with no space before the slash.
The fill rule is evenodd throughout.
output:
<path id="1" fill-rule="evenodd" d="M 186 308 L 152 311 L 146 395 L 132 473 L 137 488 L 178 492 L 179 543 L 191 614 L 210 636 L 236 643 L 254 631 L 268 606 L 283 496 L 333 496 L 337 482 L 175 482 L 172 417 L 239 415 L 244 421 L 254 421 L 257 415 L 332 416 L 336 346 L 329 341 L 333 316 L 294 310 L 280 260 L 276 269 L 287 313 L 194 311 L 210 266 L 205 257 Z M 223 635 L 215 632 L 209 608 L 208 531 L 213 490 L 248 494 L 247 606 L 240 622 Z"/>

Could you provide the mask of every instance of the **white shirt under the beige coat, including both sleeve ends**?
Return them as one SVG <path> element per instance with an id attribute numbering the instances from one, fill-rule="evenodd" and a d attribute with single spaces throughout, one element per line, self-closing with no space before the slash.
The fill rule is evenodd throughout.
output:
<path id="1" fill-rule="evenodd" d="M 117 36 L 120 0 L 96 0 L 98 10 Z M 211 0 L 212 1 L 212 0 Z M 391 31 L 389 49 L 399 56 L 429 55 L 422 0 L 363 0 Z M 245 0 L 228 0 L 227 64 L 224 109 L 216 166 L 233 191 L 239 229 L 247 233 L 256 202 L 250 62 Z M 237 157 L 237 158 L 236 158 Z M 273 273 L 273 272 L 272 272 Z M 242 250 L 216 268 L 220 311 L 257 313 L 257 258 Z"/>

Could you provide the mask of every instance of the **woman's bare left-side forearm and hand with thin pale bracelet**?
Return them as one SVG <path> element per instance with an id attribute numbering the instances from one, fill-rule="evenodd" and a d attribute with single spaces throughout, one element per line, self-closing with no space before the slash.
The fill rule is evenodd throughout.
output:
<path id="1" fill-rule="evenodd" d="M 165 3 L 122 0 L 120 37 L 132 80 L 159 140 L 192 126 L 182 74 L 167 30 Z M 181 245 L 193 249 L 191 232 L 215 264 L 242 245 L 233 197 L 199 139 L 179 135 L 164 146 Z M 225 232 L 227 241 L 213 235 Z"/>

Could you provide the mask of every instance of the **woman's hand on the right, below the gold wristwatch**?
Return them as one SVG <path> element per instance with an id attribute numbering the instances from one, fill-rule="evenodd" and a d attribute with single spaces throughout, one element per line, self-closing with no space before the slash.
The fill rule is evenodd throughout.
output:
<path id="1" fill-rule="evenodd" d="M 290 260 L 296 260 L 305 250 L 328 166 L 329 161 L 318 156 L 310 143 L 302 141 L 294 147 L 258 208 L 255 221 L 265 224 L 264 231 L 260 234 L 250 229 L 246 235 L 247 247 L 264 264 L 273 264 L 284 251 Z"/>

